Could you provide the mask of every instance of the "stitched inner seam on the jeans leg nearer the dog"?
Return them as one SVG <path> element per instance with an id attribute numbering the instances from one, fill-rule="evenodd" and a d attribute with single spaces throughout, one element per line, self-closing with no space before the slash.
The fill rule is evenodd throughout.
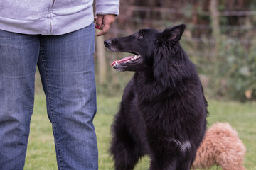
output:
<path id="1" fill-rule="evenodd" d="M 56 156 L 58 157 L 58 160 L 59 160 L 59 163 L 60 163 L 60 170 L 63 169 L 63 165 L 62 165 L 62 157 L 60 156 L 60 147 L 58 145 L 58 132 L 57 132 L 57 129 L 56 129 L 56 123 L 55 123 L 55 116 L 54 116 L 54 113 L 53 113 L 53 107 L 52 107 L 52 101 L 51 101 L 51 94 L 50 94 L 50 91 L 49 91 L 49 86 L 48 86 L 48 77 L 47 77 L 47 72 L 46 72 L 46 67 L 45 67 L 45 64 L 43 62 L 43 50 L 42 48 L 40 48 L 40 53 L 41 53 L 41 61 L 42 61 L 42 67 L 43 67 L 43 72 L 44 72 L 44 75 L 45 75 L 45 78 L 46 78 L 46 97 L 48 98 L 48 106 L 50 107 L 49 111 L 50 111 L 50 115 L 51 115 L 51 121 L 52 121 L 52 124 L 53 124 L 53 133 L 54 133 L 54 136 L 55 136 L 55 147 L 56 147 Z"/>

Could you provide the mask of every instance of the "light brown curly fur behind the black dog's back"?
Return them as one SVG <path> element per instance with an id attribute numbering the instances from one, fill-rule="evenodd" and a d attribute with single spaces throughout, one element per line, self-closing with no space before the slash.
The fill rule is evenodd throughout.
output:
<path id="1" fill-rule="evenodd" d="M 215 123 L 207 130 L 191 169 L 210 169 L 217 164 L 223 170 L 244 170 L 245 152 L 238 132 L 228 123 Z"/>

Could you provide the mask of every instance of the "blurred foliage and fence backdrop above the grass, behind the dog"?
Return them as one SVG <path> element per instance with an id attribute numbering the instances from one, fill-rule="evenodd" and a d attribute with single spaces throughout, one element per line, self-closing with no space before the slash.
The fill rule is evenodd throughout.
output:
<path id="1" fill-rule="evenodd" d="M 256 99 L 256 1 L 127 0 L 120 3 L 120 16 L 104 39 L 130 35 L 141 28 L 164 30 L 186 23 L 181 45 L 198 67 L 206 95 L 239 101 Z M 110 64 L 128 54 L 114 54 L 96 46 L 98 68 L 102 68 L 98 55 L 102 50 L 106 56 L 103 64 L 107 65 L 103 72 L 107 74 L 99 79 L 97 70 L 98 92 L 119 95 L 132 73 L 115 72 Z"/>

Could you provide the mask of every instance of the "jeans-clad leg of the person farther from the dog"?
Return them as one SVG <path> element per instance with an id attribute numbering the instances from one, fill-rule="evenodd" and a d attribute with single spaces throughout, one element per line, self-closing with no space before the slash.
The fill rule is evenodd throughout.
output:
<path id="1" fill-rule="evenodd" d="M 39 39 L 0 30 L 0 169 L 25 164 Z"/>

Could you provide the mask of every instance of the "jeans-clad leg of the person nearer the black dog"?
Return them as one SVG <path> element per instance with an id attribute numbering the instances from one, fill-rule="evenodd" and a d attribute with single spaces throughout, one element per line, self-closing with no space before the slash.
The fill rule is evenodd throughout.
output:
<path id="1" fill-rule="evenodd" d="M 97 169 L 95 28 L 41 36 L 38 68 L 53 124 L 58 169 Z"/>

